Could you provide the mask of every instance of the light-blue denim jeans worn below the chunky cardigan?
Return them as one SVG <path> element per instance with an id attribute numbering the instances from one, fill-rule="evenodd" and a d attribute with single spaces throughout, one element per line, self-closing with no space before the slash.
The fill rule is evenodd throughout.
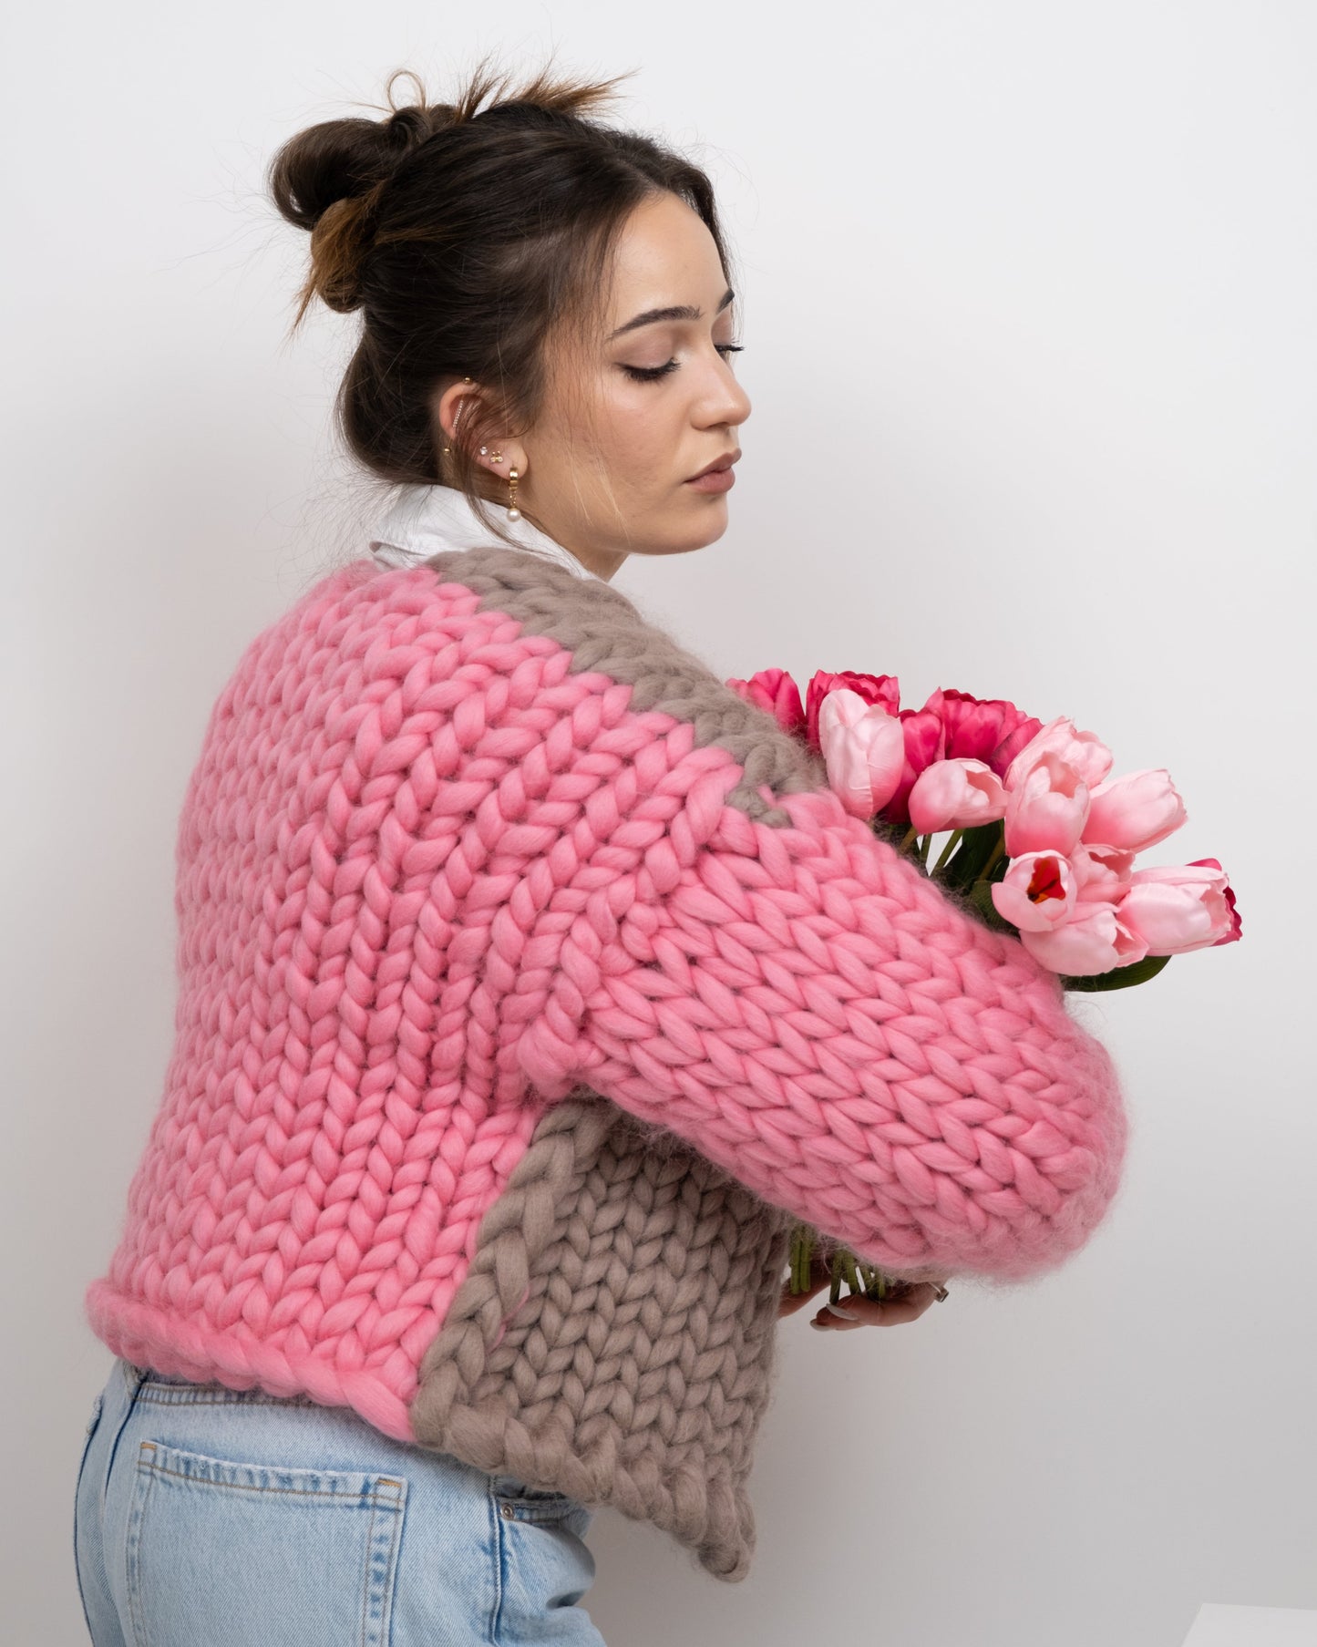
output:
<path id="1" fill-rule="evenodd" d="M 115 1362 L 77 1476 L 95 1647 L 603 1647 L 593 1510 L 347 1408 Z"/>

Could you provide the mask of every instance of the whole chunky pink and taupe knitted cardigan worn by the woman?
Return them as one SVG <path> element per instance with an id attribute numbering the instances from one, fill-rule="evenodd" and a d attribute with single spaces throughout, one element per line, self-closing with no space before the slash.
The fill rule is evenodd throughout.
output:
<path id="1" fill-rule="evenodd" d="M 1126 1118 L 1059 982 L 607 583 L 318 583 L 178 832 L 176 1044 L 95 1332 L 649 1519 L 723 1579 L 790 1225 L 1024 1278 Z"/>

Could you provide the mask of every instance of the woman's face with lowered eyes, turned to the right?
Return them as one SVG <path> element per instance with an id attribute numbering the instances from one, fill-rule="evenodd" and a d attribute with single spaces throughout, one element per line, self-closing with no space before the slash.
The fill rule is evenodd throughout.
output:
<path id="1" fill-rule="evenodd" d="M 629 553 L 703 548 L 728 527 L 734 473 L 693 476 L 741 456 L 751 413 L 733 372 L 731 296 L 700 216 L 660 194 L 617 239 L 603 336 L 584 352 L 550 349 L 543 408 L 515 443 L 519 502 L 598 576 Z"/>

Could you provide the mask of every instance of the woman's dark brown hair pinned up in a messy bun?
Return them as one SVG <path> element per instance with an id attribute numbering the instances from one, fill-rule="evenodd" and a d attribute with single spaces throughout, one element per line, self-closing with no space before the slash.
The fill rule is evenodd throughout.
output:
<path id="1" fill-rule="evenodd" d="M 417 82 L 397 107 L 393 81 Z M 631 211 L 686 201 L 729 267 L 705 171 L 647 137 L 586 119 L 627 76 L 571 81 L 542 69 L 519 89 L 481 64 L 453 104 L 426 102 L 410 69 L 387 82 L 387 120 L 339 119 L 288 138 L 268 168 L 280 212 L 311 231 L 313 296 L 362 310 L 336 402 L 356 458 L 387 481 L 459 488 L 481 509 L 491 433 L 530 428 L 543 404 L 550 334 L 598 318 L 612 245 Z M 443 458 L 436 395 L 472 377 L 491 404 L 463 413 Z M 468 422 L 469 418 L 469 422 Z M 500 534 L 502 535 L 502 534 Z"/>

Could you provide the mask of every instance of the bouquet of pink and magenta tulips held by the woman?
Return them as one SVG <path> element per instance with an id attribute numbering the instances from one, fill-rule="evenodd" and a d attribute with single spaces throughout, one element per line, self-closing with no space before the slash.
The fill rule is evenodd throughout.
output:
<path id="1" fill-rule="evenodd" d="M 1111 751 L 1065 716 L 1044 726 L 1004 698 L 940 687 L 922 708 L 902 710 L 896 675 L 818 670 L 803 703 L 784 669 L 728 685 L 823 756 L 848 812 L 968 896 L 986 926 L 1012 932 L 1067 990 L 1147 983 L 1172 955 L 1240 937 L 1215 858 L 1134 868 L 1138 853 L 1187 822 L 1170 774 L 1110 777 Z M 818 1232 L 795 1227 L 793 1293 L 808 1291 L 817 1243 Z M 845 1247 L 830 1268 L 833 1303 L 843 1280 L 869 1298 L 892 1288 Z"/>

